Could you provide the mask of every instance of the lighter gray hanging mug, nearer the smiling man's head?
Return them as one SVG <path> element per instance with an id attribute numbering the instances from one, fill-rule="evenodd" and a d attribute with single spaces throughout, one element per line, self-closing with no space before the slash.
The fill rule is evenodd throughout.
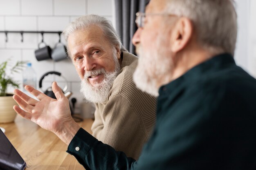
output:
<path id="1" fill-rule="evenodd" d="M 58 42 L 52 50 L 52 60 L 61 61 L 67 58 L 67 49 L 64 44 Z"/>

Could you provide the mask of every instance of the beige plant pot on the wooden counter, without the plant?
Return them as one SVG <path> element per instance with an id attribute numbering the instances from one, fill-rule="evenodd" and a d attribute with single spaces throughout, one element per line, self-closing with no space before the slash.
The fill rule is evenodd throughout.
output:
<path id="1" fill-rule="evenodd" d="M 17 113 L 13 110 L 13 106 L 18 104 L 12 98 L 13 95 L 0 96 L 0 123 L 13 122 Z"/>

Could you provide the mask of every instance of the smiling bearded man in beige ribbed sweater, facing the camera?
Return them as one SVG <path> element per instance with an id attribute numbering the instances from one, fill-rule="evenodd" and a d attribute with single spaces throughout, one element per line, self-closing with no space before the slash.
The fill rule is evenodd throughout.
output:
<path id="1" fill-rule="evenodd" d="M 81 92 L 96 106 L 92 135 L 138 159 L 155 125 L 156 98 L 135 87 L 137 57 L 121 44 L 111 22 L 99 15 L 77 18 L 63 34 Z"/>

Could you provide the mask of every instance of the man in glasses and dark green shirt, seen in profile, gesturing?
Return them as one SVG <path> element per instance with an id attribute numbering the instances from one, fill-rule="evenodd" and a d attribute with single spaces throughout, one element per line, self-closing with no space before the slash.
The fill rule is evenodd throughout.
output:
<path id="1" fill-rule="evenodd" d="M 233 0 L 151 0 L 146 13 L 137 13 L 135 83 L 158 96 L 157 123 L 138 161 L 102 144 L 71 118 L 62 127 L 40 125 L 90 170 L 255 170 L 256 79 L 233 58 L 236 18 Z M 53 87 L 61 102 L 63 93 Z M 14 107 L 32 120 L 49 118 Z"/>

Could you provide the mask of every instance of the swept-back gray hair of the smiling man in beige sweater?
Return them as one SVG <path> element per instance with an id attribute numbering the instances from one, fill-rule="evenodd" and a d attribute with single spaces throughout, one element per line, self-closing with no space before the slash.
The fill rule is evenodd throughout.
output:
<path id="1" fill-rule="evenodd" d="M 112 23 L 107 18 L 101 17 L 99 15 L 85 15 L 77 18 L 74 22 L 71 22 L 63 31 L 66 42 L 69 38 L 69 35 L 74 31 L 88 29 L 92 25 L 97 25 L 102 29 L 106 40 L 112 44 L 113 49 L 115 46 L 118 46 L 121 52 L 127 51 L 121 43 L 121 40 L 117 35 L 114 27 L 112 26 Z M 68 46 L 67 51 L 69 53 Z"/>

